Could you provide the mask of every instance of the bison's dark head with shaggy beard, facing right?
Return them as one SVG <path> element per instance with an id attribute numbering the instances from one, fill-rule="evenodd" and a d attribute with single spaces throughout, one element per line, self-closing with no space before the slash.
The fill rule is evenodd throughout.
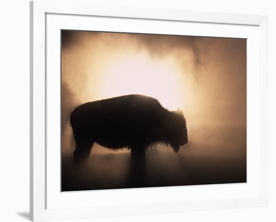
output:
<path id="1" fill-rule="evenodd" d="M 166 134 L 169 144 L 174 152 L 178 152 L 180 146 L 188 143 L 186 120 L 181 110 L 170 112 L 166 121 Z"/>

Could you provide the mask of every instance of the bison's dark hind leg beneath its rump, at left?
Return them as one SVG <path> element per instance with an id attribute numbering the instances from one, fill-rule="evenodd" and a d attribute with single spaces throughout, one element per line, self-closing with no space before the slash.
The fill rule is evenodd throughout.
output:
<path id="1" fill-rule="evenodd" d="M 93 142 L 88 140 L 77 140 L 76 149 L 74 151 L 75 161 L 83 161 L 89 157 Z"/>

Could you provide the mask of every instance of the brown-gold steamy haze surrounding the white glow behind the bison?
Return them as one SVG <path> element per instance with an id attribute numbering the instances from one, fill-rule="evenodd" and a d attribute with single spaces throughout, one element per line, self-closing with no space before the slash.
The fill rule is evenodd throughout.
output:
<path id="1" fill-rule="evenodd" d="M 102 99 L 97 92 L 108 78 L 103 70 L 129 54 L 177 64 L 190 142 L 211 138 L 217 126 L 246 129 L 246 39 L 62 31 L 63 151 L 73 149 L 67 142 L 72 109 Z"/>

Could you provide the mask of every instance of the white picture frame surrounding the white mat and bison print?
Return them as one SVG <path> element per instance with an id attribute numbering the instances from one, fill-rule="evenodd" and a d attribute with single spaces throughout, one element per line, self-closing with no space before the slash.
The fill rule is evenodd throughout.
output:
<path id="1" fill-rule="evenodd" d="M 207 210 L 207 209 L 225 209 L 238 207 L 255 207 L 267 205 L 267 17 L 253 15 L 236 15 L 223 13 L 206 13 L 206 12 L 189 12 L 179 10 L 161 10 L 148 8 L 124 8 L 124 7 L 106 7 L 93 5 L 88 0 L 35 0 L 30 3 L 31 12 L 31 33 L 30 33 L 30 215 L 33 221 L 41 220 L 57 220 L 57 219 L 80 219 L 89 217 L 118 216 L 118 215 L 134 215 L 134 214 L 151 214 L 164 212 L 181 212 L 191 210 Z M 93 16 L 97 18 L 117 18 L 117 19 L 138 19 L 147 21 L 166 21 L 170 23 L 191 24 L 203 23 L 211 25 L 239 25 L 252 26 L 257 29 L 257 52 L 258 69 L 256 70 L 256 90 L 258 118 L 255 117 L 257 125 L 257 136 L 259 143 L 256 143 L 254 149 L 257 150 L 257 171 L 258 180 L 255 185 L 257 191 L 254 194 L 240 195 L 231 198 L 212 198 L 206 197 L 202 200 L 187 200 L 185 197 L 174 201 L 152 201 L 147 203 L 131 202 L 112 203 L 111 205 L 85 205 L 78 207 L 68 207 L 67 205 L 47 207 L 49 201 L 47 195 L 51 195 L 52 189 L 48 187 L 47 179 L 49 176 L 48 161 L 51 156 L 47 155 L 46 140 L 46 98 L 49 90 L 46 86 L 46 27 L 47 15 L 64 15 L 64 16 Z M 76 21 L 77 25 L 77 21 Z M 135 29 L 135 28 L 133 28 Z M 216 29 L 216 28 L 214 28 Z M 248 52 L 248 51 L 247 51 Z M 254 51 L 253 51 L 254 52 Z M 247 76 L 250 72 L 247 73 Z M 48 86 L 49 87 L 49 86 Z M 250 93 L 250 92 L 249 92 Z M 252 126 L 252 125 L 250 125 Z M 47 158 L 46 158 L 47 157 Z M 205 190 L 217 192 L 220 187 L 205 186 Z M 143 192 L 151 192 L 151 189 L 143 189 Z M 239 189 L 239 188 L 236 188 Z M 128 190 L 128 192 L 136 192 L 141 189 Z M 147 191 L 145 191 L 147 190 Z M 113 191 L 113 192 L 116 192 Z M 165 192 L 175 192 L 173 187 L 166 188 Z M 212 193 L 211 192 L 211 193 Z M 53 193 L 54 195 L 55 193 Z M 83 195 L 78 200 L 85 200 L 88 192 L 82 192 Z M 69 193 L 68 195 L 73 195 Z M 93 195 L 93 193 L 89 194 Z M 95 195 L 95 193 L 94 193 Z M 104 196 L 104 192 L 97 193 L 96 198 Z M 108 193 L 110 195 L 110 193 Z M 122 194 L 125 195 L 125 194 Z M 180 195 L 181 196 L 181 195 Z M 75 198 L 75 197 L 74 197 Z M 115 196 L 114 196 L 115 198 Z M 70 196 L 69 196 L 70 200 Z M 47 203 L 48 201 L 48 203 Z M 67 197 L 68 201 L 68 197 Z M 58 201 L 57 201 L 58 202 Z"/>

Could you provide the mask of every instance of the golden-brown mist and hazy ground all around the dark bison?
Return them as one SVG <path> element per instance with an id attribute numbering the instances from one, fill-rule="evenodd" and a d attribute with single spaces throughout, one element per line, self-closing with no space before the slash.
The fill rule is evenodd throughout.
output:
<path id="1" fill-rule="evenodd" d="M 155 93 L 170 110 L 182 108 L 189 137 L 178 154 L 162 145 L 148 151 L 148 174 L 155 179 L 148 180 L 147 186 L 246 180 L 246 39 L 62 31 L 61 60 L 63 175 L 68 174 L 67 184 L 69 174 L 75 172 L 69 167 L 75 146 L 69 124 L 72 110 L 84 102 L 137 92 Z M 125 65 L 135 60 L 143 63 L 131 63 L 130 68 Z M 156 82 L 147 84 L 151 74 L 141 68 L 144 63 L 145 69 L 157 64 L 157 70 L 172 70 L 175 81 L 160 78 L 159 82 L 154 76 Z M 126 68 L 120 68 L 121 64 Z M 137 81 L 140 75 L 145 82 Z M 133 85 L 127 88 L 126 83 Z M 158 92 L 154 91 L 157 87 Z M 122 181 L 128 175 L 127 149 L 110 151 L 94 144 L 90 160 L 81 175 L 93 176 L 89 181 L 79 178 L 82 189 L 126 187 Z M 103 163 L 115 170 L 111 173 Z M 66 187 L 67 191 L 78 189 Z"/>

